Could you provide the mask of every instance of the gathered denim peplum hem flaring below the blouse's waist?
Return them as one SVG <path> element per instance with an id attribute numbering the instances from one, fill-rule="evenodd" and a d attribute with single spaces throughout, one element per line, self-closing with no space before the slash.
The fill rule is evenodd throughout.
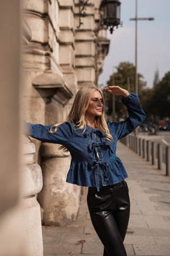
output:
<path id="1" fill-rule="evenodd" d="M 99 190 L 101 176 L 104 177 L 104 186 L 113 185 L 128 178 L 128 174 L 120 158 L 88 162 L 72 158 L 66 182 L 83 187 L 97 187 Z"/>

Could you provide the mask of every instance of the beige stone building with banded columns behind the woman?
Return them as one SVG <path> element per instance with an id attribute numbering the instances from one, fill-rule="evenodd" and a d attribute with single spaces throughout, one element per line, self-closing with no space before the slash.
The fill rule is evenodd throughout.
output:
<path id="1" fill-rule="evenodd" d="M 66 118 L 81 86 L 97 86 L 109 40 L 101 27 L 101 0 L 89 0 L 79 27 L 78 0 L 24 0 L 24 19 L 32 39 L 23 52 L 24 118 L 44 125 Z M 43 223 L 65 225 L 79 209 L 83 188 L 66 183 L 70 154 L 60 145 L 31 139 L 41 166 L 38 194 Z M 39 167 L 38 167 L 39 168 Z"/>

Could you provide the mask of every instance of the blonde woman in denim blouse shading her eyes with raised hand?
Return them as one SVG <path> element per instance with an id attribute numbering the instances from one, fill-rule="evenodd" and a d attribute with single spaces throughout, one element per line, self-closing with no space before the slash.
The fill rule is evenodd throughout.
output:
<path id="1" fill-rule="evenodd" d="M 105 89 L 122 95 L 129 117 L 120 123 L 106 122 L 104 99 L 96 87 L 83 87 L 75 95 L 65 122 L 44 126 L 27 123 L 28 135 L 61 144 L 72 160 L 67 182 L 89 187 L 87 202 L 92 224 L 104 245 L 104 256 L 125 256 L 123 245 L 130 214 L 128 177 L 116 156 L 117 140 L 132 132 L 145 119 L 139 98 L 119 86 Z"/>

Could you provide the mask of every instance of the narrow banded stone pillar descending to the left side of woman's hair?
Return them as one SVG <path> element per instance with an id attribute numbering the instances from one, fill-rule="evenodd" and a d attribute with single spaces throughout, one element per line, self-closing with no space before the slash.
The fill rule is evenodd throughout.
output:
<path id="1" fill-rule="evenodd" d="M 60 66 L 66 83 L 73 95 L 78 91 L 77 75 L 75 74 L 75 24 L 74 24 L 74 1 L 59 1 L 59 27 L 58 41 L 60 44 Z M 65 106 L 70 110 L 74 97 Z"/>

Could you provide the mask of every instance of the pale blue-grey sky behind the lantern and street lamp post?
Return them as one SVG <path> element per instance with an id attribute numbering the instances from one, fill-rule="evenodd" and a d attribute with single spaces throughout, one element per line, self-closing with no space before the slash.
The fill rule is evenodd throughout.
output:
<path id="1" fill-rule="evenodd" d="M 120 0 L 121 21 L 107 38 L 111 40 L 105 58 L 103 73 L 99 76 L 102 87 L 107 85 L 110 75 L 116 72 L 121 61 L 135 63 L 135 0 Z M 170 0 L 138 0 L 138 18 L 154 17 L 154 21 L 138 21 L 138 73 L 142 74 L 147 87 L 153 86 L 155 71 L 160 80 L 170 71 Z"/>

